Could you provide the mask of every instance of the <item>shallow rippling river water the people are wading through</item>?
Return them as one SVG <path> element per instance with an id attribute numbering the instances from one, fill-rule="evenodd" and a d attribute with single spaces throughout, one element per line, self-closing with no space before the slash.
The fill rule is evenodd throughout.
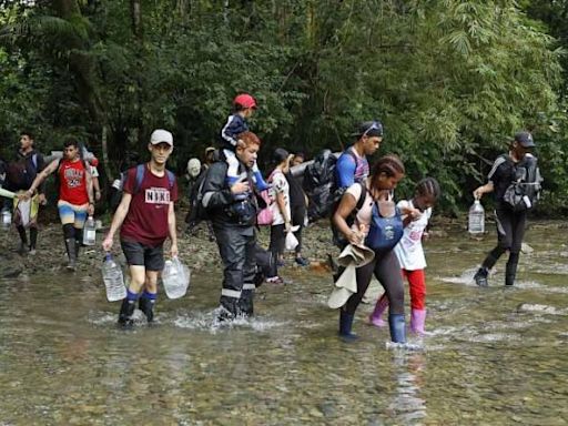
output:
<path id="1" fill-rule="evenodd" d="M 568 248 L 561 223 L 531 224 L 518 282 L 471 281 L 495 241 L 426 244 L 427 329 L 418 349 L 354 325 L 338 341 L 328 274 L 287 267 L 257 316 L 217 327 L 220 273 L 193 274 L 158 323 L 115 327 L 99 272 L 0 282 L 0 425 L 565 425 Z M 139 313 L 140 314 L 140 313 Z"/>

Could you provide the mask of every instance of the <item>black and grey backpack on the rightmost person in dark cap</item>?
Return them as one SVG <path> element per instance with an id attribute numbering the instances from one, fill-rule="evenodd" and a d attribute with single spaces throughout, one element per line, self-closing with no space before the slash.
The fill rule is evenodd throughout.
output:
<path id="1" fill-rule="evenodd" d="M 527 154 L 515 165 L 515 181 L 507 187 L 503 199 L 515 212 L 530 210 L 540 199 L 541 184 L 538 160 Z"/>

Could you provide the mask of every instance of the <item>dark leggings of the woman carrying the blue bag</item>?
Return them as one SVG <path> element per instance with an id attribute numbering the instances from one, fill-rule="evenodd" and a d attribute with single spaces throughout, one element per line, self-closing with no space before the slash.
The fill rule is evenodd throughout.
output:
<path id="1" fill-rule="evenodd" d="M 373 274 L 383 285 L 389 303 L 390 314 L 404 314 L 404 285 L 400 273 L 400 264 L 395 253 L 390 250 L 386 253 L 375 253 L 373 262 L 365 266 L 357 267 L 357 293 L 353 294 L 345 304 L 347 314 L 355 314 Z"/>

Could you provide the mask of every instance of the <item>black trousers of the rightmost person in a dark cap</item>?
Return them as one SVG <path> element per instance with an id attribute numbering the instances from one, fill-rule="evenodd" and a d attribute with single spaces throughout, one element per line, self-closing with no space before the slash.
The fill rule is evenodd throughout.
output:
<path id="1" fill-rule="evenodd" d="M 497 209 L 497 240 L 498 244 L 489 252 L 483 266 L 490 270 L 506 252 L 509 252 L 511 263 L 518 263 L 523 239 L 525 236 L 526 212 L 513 212 L 508 209 Z"/>

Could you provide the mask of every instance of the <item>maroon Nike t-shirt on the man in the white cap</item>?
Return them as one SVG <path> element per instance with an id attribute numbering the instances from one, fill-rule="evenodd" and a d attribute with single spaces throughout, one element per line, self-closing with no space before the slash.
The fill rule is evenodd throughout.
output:
<path id="1" fill-rule="evenodd" d="M 170 187 L 168 173 L 159 178 L 148 164 L 144 178 L 136 186 L 136 168 L 130 169 L 124 182 L 124 191 L 132 194 L 130 209 L 120 230 L 121 240 L 156 247 L 168 237 L 168 211 L 170 202 L 178 201 L 178 183 Z"/>

